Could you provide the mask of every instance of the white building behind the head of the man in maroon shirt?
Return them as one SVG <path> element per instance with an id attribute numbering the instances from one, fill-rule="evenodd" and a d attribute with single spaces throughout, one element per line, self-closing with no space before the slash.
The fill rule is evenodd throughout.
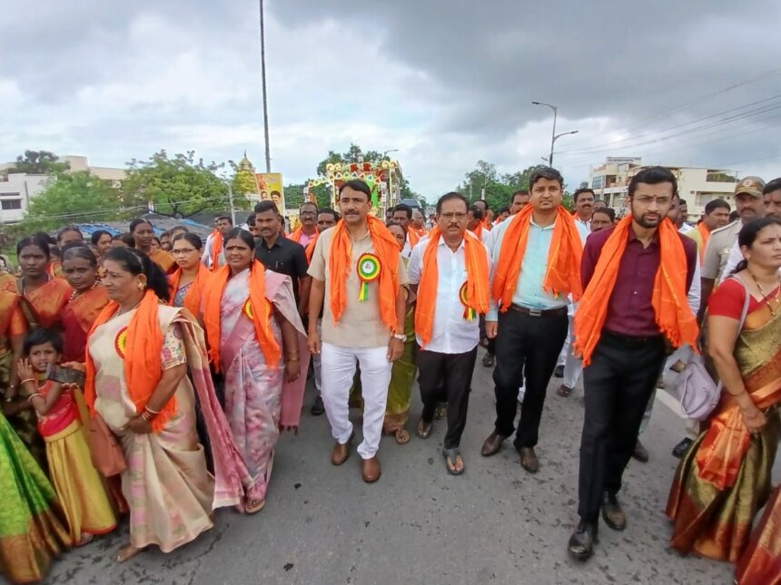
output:
<path id="1" fill-rule="evenodd" d="M 672 171 L 678 181 L 678 193 L 688 204 L 688 220 L 696 222 L 705 211 L 708 201 L 726 200 L 735 209 L 735 185 L 737 171 L 723 169 L 707 169 L 697 167 L 680 167 L 676 165 L 659 165 Z M 604 164 L 592 168 L 588 185 L 612 207 L 618 215 L 625 215 L 628 210 L 627 194 L 629 181 L 639 171 L 647 169 L 638 157 L 618 158 L 608 157 Z"/>

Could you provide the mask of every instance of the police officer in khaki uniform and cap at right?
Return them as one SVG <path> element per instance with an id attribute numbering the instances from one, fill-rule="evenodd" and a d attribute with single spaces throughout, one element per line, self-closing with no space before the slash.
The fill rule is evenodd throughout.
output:
<path id="1" fill-rule="evenodd" d="M 710 234 L 701 273 L 702 298 L 698 315 L 700 319 L 702 319 L 707 307 L 707 299 L 714 287 L 722 278 L 729 276 L 722 273 L 727 266 L 729 253 L 737 242 L 737 233 L 746 223 L 765 216 L 765 203 L 762 199 L 762 190 L 764 189 L 765 181 L 759 177 L 746 177 L 738 180 L 735 186 L 735 208 L 740 219 L 724 228 L 714 229 Z"/>

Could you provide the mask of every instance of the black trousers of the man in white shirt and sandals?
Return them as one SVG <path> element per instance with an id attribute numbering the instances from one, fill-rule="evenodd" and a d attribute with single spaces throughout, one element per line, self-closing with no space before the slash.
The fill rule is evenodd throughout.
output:
<path id="1" fill-rule="evenodd" d="M 472 372 L 478 348 L 465 354 L 440 354 L 418 348 L 418 385 L 423 401 L 421 417 L 427 423 L 434 419 L 437 403 L 448 403 L 448 432 L 445 449 L 458 447 L 467 424 Z"/>

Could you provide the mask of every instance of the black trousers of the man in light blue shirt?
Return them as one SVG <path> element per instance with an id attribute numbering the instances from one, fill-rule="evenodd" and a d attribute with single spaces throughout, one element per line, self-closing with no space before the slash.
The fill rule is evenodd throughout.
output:
<path id="1" fill-rule="evenodd" d="M 526 393 L 514 442 L 516 448 L 537 444 L 545 394 L 567 338 L 568 327 L 566 314 L 531 317 L 512 309 L 499 313 L 493 371 L 497 434 L 509 437 L 515 431 L 518 389 L 526 374 Z"/>

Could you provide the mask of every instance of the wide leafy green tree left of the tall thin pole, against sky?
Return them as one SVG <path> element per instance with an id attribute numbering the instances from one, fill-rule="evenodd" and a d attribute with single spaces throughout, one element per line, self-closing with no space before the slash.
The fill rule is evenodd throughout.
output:
<path id="1" fill-rule="evenodd" d="M 204 210 L 226 210 L 229 207 L 228 184 L 216 172 L 224 165 L 204 164 L 195 152 L 175 154 L 155 152 L 148 161 L 130 162 L 123 189 L 139 205 L 152 201 L 157 213 L 173 218 L 187 218 Z M 233 205 L 248 209 L 249 200 L 233 194 Z"/>

